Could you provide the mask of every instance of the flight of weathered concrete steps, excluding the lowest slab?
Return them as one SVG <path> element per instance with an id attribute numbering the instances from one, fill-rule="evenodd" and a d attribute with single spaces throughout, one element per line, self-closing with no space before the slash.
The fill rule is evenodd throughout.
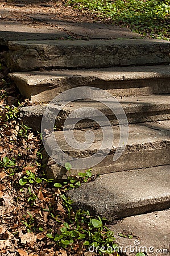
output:
<path id="1" fill-rule="evenodd" d="M 88 108 L 105 115 L 114 133 L 111 150 L 92 168 L 93 174 L 101 176 L 69 192 L 75 208 L 88 209 L 111 222 L 126 217 L 126 222 L 130 216 L 142 214 L 140 216 L 146 219 L 145 213 L 170 207 L 169 52 L 169 42 L 155 39 L 9 42 L 9 51 L 5 55 L 11 71 L 9 76 L 20 93 L 32 102 L 32 106 L 20 109 L 28 127 L 40 131 L 48 102 L 77 87 L 80 90 L 91 87 L 93 93 L 95 88 L 102 89 L 102 101 L 113 101 L 115 97 L 126 113 L 129 123 L 127 145 L 121 157 L 113 162 L 113 155 L 119 150 L 120 126 L 117 116 L 101 102 L 101 98 L 98 102 L 97 97 L 94 100 L 89 94 L 89 98 L 65 106 L 51 104 L 48 121 L 52 122 L 53 113 L 59 112 L 55 121 L 56 141 L 70 157 L 81 158 L 82 169 L 83 159 L 91 158 L 102 144 L 102 129 L 94 121 L 98 112 L 93 113 Z M 110 93 L 110 98 L 105 92 Z M 73 115 L 64 126 L 65 118 L 77 109 L 83 119 Z M 69 137 L 74 122 L 77 122 L 74 134 L 78 142 L 84 142 L 85 133 L 95 135 L 94 142 L 85 150 L 72 148 L 65 142 L 63 127 Z M 105 121 L 103 127 L 109 141 L 111 134 Z M 53 149 L 53 156 L 58 154 L 50 133 L 45 143 Z M 106 150 L 107 145 L 98 157 Z M 67 176 L 65 168 L 47 154 L 44 162 L 49 177 L 63 179 Z M 76 168 L 72 170 L 72 174 L 78 172 L 80 170 Z M 120 226 L 114 227 L 120 230 Z M 127 252 L 125 255 L 135 254 Z"/>

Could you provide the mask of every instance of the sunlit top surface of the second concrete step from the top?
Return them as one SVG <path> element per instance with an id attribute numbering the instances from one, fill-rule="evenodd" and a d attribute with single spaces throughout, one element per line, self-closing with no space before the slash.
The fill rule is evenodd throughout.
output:
<path id="1" fill-rule="evenodd" d="M 92 81 L 126 81 L 140 79 L 160 79 L 170 77 L 170 65 L 155 65 L 141 67 L 112 67 L 100 69 L 82 69 L 82 70 L 53 70 L 53 71 L 33 71 L 33 72 L 15 72 L 10 73 L 11 79 L 23 80 L 28 86 L 43 86 L 46 84 L 54 84 L 60 79 L 73 77 L 80 80 L 80 76 L 84 78 L 90 77 Z M 85 84 L 86 81 L 84 81 Z M 107 89 L 107 84 L 106 84 Z"/>

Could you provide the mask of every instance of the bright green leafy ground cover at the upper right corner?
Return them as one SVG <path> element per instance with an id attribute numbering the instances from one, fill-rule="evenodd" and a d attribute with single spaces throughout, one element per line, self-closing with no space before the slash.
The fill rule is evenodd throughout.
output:
<path id="1" fill-rule="evenodd" d="M 168 0 L 68 0 L 67 5 L 109 18 L 113 24 L 129 27 L 143 36 L 169 40 Z"/>

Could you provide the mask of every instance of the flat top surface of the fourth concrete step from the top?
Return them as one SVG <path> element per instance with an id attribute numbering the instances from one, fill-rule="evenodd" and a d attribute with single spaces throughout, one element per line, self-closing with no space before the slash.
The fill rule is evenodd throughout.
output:
<path id="1" fill-rule="evenodd" d="M 48 129 L 48 127 L 47 127 Z M 79 142 L 84 142 L 85 132 L 90 133 L 93 132 L 95 135 L 95 140 L 92 143 L 89 143 L 89 148 L 87 150 L 76 150 L 67 144 L 64 139 L 63 131 L 56 131 L 55 138 L 57 143 L 63 148 L 64 151 L 73 151 L 80 152 L 84 155 L 86 152 L 89 152 L 89 155 L 93 154 L 94 150 L 98 150 L 101 147 L 103 137 L 102 137 L 102 129 L 82 129 L 82 130 L 74 130 L 74 137 Z M 118 126 L 113 126 L 113 148 L 117 148 L 120 139 L 120 130 Z M 65 131 L 65 135 L 67 137 L 71 137 L 72 130 Z M 107 135 L 107 140 L 109 141 L 111 138 L 111 131 L 107 128 L 105 129 L 105 135 Z M 47 138 L 47 142 L 51 143 L 51 137 Z M 128 150 L 131 151 L 132 148 L 138 147 L 147 147 L 152 149 L 155 147 L 155 143 L 167 141 L 170 142 L 170 120 L 168 121 L 159 121 L 159 122 L 148 122 L 148 123 L 137 123 L 130 124 L 128 126 L 128 142 L 127 146 L 131 146 Z M 91 145 L 91 146 L 90 146 Z M 55 147 L 54 147 L 55 148 Z M 104 150 L 104 148 L 103 148 Z"/>

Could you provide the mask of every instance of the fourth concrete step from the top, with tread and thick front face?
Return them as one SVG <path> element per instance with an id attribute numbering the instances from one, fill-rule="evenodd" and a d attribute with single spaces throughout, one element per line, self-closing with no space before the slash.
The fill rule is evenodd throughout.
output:
<path id="1" fill-rule="evenodd" d="M 92 136 L 94 133 L 94 140 L 92 139 L 92 144 L 88 144 L 88 148 L 78 150 L 75 146 L 70 146 L 65 141 L 65 136 L 70 139 L 72 138 L 72 130 L 56 131 L 55 138 L 57 144 L 67 154 L 73 158 L 81 158 L 81 169 L 85 169 L 84 163 L 86 158 L 88 158 L 91 166 L 93 167 L 93 174 L 106 174 L 109 172 L 126 171 L 138 168 L 146 168 L 153 166 L 160 166 L 164 164 L 170 164 L 170 121 L 160 121 L 153 123 L 138 123 L 135 125 L 129 125 L 128 127 L 128 142 L 123 154 L 115 162 L 113 161 L 113 156 L 117 149 L 120 149 L 119 139 L 120 139 L 120 127 L 113 126 L 114 139 L 112 142 L 112 134 L 110 129 L 104 127 L 104 130 L 98 129 L 84 129 L 84 130 L 74 130 L 74 137 L 78 142 L 85 142 L 86 135 Z M 46 128 L 48 130 L 48 127 Z M 105 139 L 103 139 L 103 133 Z M 122 133 L 123 134 L 123 133 Z M 123 135 L 126 135 L 125 132 Z M 126 138 L 123 138 L 123 146 L 125 146 Z M 72 145 L 72 141 L 69 142 Z M 105 147 L 103 146 L 105 144 Z M 107 144 L 112 146 L 108 146 Z M 56 149 L 55 139 L 49 135 L 45 139 L 46 148 L 51 151 L 52 159 L 59 156 L 59 151 Z M 109 154 L 106 155 L 106 151 L 111 147 Z M 101 149 L 102 148 L 102 149 Z M 91 158 L 93 154 L 96 154 L 95 158 Z M 106 156 L 102 162 L 97 163 L 102 156 Z M 45 159 L 45 155 L 44 155 Z M 65 168 L 62 168 L 54 162 L 51 158 L 46 159 L 47 163 L 47 174 L 49 177 L 55 179 L 60 179 L 65 177 Z M 90 162 L 90 159 L 92 162 Z M 93 159 L 95 161 L 93 161 Z M 57 159 L 58 163 L 60 159 Z M 65 162 L 69 162 L 68 159 Z M 72 162 L 70 161 L 72 164 Z M 73 166 L 73 164 L 72 164 Z M 80 170 L 72 170 L 72 174 L 77 174 Z"/>

